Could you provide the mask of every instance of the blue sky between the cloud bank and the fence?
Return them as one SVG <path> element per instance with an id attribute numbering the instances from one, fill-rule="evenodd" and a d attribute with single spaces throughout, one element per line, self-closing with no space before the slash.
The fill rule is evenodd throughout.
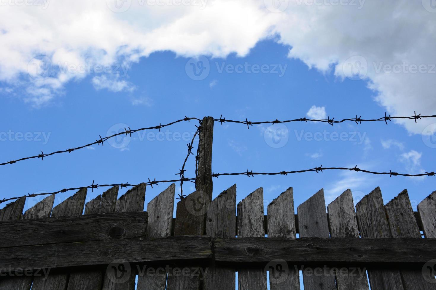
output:
<path id="1" fill-rule="evenodd" d="M 118 92 L 96 89 L 91 73 L 82 80 L 68 83 L 55 103 L 32 107 L 19 98 L 3 93 L 3 132 L 1 159 L 8 161 L 55 150 L 77 147 L 121 130 L 154 126 L 188 117 L 221 114 L 233 120 L 294 119 L 315 113 L 325 113 L 335 120 L 354 117 L 378 118 L 385 108 L 374 100 L 376 92 L 368 89 L 365 80 L 340 79 L 330 72 L 320 72 L 300 60 L 290 59 L 290 47 L 274 39 L 262 40 L 245 57 L 230 54 L 225 58 L 208 57 L 210 72 L 204 80 L 192 80 L 186 64 L 189 57 L 176 57 L 172 52 L 156 52 L 129 67 L 127 75 L 115 82 L 126 82 L 128 88 Z M 248 63 L 285 68 L 280 73 L 231 72 L 231 67 Z M 220 67 L 230 67 L 219 71 Z M 189 66 L 188 66 L 189 67 Z M 279 70 L 279 69 L 277 69 Z M 280 71 L 280 70 L 279 70 Z M 1 88 L 7 88 L 2 83 Z M 98 87 L 97 87 L 98 88 Z M 413 106 L 410 113 L 413 114 Z M 312 110 L 313 111 L 313 110 Z M 409 122 L 413 122 L 410 120 Z M 80 187 L 96 183 L 139 183 L 148 178 L 173 179 L 186 155 L 186 143 L 196 128 L 195 121 L 183 122 L 163 130 L 166 136 L 156 136 L 156 130 L 134 133 L 131 139 L 118 138 L 105 146 L 93 146 L 72 153 L 26 160 L 2 166 L 3 190 L 0 198 L 27 193 L 55 191 L 65 187 Z M 427 146 L 420 134 L 411 134 L 405 127 L 385 123 L 287 123 L 255 125 L 247 130 L 242 124 L 215 123 L 213 171 L 257 172 L 326 167 L 354 167 L 374 171 L 420 173 L 433 171 L 434 148 Z M 281 126 L 281 127 L 279 127 Z M 278 146 L 269 132 L 283 130 L 287 141 Z M 28 140 L 20 133 L 30 132 Z M 335 137 L 335 133 L 338 135 Z M 341 138 L 338 138 L 341 136 Z M 336 138 L 336 139 L 335 139 Z M 21 136 L 21 139 L 24 139 Z M 159 140 L 157 140 L 159 139 Z M 339 140 L 337 140 L 339 139 Z M 425 138 L 424 138 L 425 139 Z M 119 148 L 121 147 L 121 148 Z M 276 148 L 278 147 L 278 148 Z M 187 162 L 187 177 L 194 176 L 194 158 Z M 434 188 L 432 177 L 409 178 L 376 176 L 361 172 L 325 171 L 288 176 L 256 176 L 248 178 L 214 178 L 214 197 L 237 184 L 237 199 L 241 200 L 257 187 L 264 188 L 265 206 L 288 187 L 294 189 L 296 207 L 324 188 L 330 202 L 350 188 L 354 201 L 380 186 L 385 202 L 403 189 L 409 190 L 412 206 L 416 207 Z M 184 192 L 194 190 L 185 183 Z M 147 187 L 146 203 L 167 185 Z M 177 187 L 179 189 L 179 187 Z M 120 190 L 122 194 L 126 189 Z M 89 191 L 87 200 L 104 189 Z M 60 193 L 56 203 L 73 192 Z M 29 205 L 33 203 L 30 202 Z M 5 204 L 1 204 L 3 207 Z"/>

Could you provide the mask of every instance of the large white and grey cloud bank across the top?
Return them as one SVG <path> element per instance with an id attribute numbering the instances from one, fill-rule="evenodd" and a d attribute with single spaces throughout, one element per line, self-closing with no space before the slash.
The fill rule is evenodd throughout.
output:
<path id="1" fill-rule="evenodd" d="M 310 68 L 366 82 L 388 113 L 436 110 L 436 11 L 426 1 L 289 0 L 276 8 L 268 0 L 132 0 L 123 1 L 130 5 L 123 13 L 109 9 L 111 1 L 2 6 L 0 81 L 25 87 L 27 102 L 41 105 L 93 73 L 79 67 L 128 64 L 161 50 L 245 56 L 259 40 L 273 38 Z M 422 133 L 432 121 L 395 122 Z"/>

